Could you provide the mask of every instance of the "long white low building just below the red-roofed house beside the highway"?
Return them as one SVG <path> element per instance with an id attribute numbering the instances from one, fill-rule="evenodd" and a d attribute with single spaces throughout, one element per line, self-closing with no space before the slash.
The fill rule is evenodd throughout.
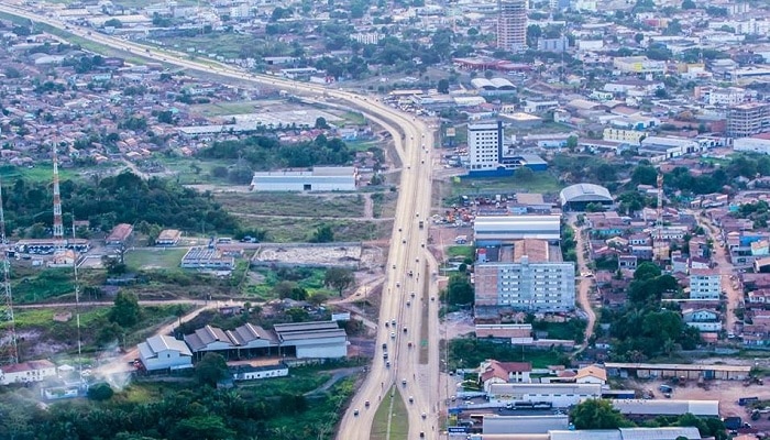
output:
<path id="1" fill-rule="evenodd" d="M 566 408 L 583 400 L 602 397 L 598 384 L 492 384 L 490 404 L 505 406 L 517 402 L 549 403 Z"/>

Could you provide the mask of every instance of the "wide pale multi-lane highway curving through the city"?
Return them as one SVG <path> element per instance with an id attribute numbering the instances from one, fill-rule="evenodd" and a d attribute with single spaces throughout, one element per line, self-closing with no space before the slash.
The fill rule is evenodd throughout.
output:
<path id="1" fill-rule="evenodd" d="M 413 114 L 393 109 L 374 97 L 328 89 L 314 84 L 296 82 L 270 75 L 252 75 L 212 61 L 205 63 L 190 61 L 182 53 L 156 50 L 72 25 L 65 26 L 58 20 L 7 4 L 0 4 L 0 11 L 67 30 L 79 37 L 169 65 L 271 86 L 296 96 L 341 100 L 361 110 L 371 121 L 387 130 L 402 158 L 403 172 L 387 261 L 387 280 L 383 288 L 376 336 L 377 351 L 363 385 L 352 398 L 342 418 L 338 439 L 369 439 L 374 414 L 381 399 L 384 398 L 384 393 L 392 385 L 400 389 L 408 410 L 408 438 L 419 439 L 422 436 L 426 439 L 439 438 L 439 300 L 433 280 L 437 267 L 425 249 L 431 205 L 430 152 L 435 147 L 433 132 L 428 125 Z M 419 221 L 425 222 L 425 228 L 419 227 Z M 430 297 L 436 297 L 436 300 L 431 300 Z M 427 326 L 422 324 L 424 319 L 428 319 Z M 389 323 L 392 320 L 396 321 L 396 326 Z M 386 321 L 387 327 L 385 327 Z M 424 329 L 425 334 L 422 334 Z M 389 366 L 383 360 L 383 343 L 387 344 Z M 427 350 L 427 362 L 424 364 L 420 364 L 421 346 Z M 403 385 L 403 381 L 406 385 Z M 408 402 L 408 396 L 413 397 L 414 403 Z M 369 407 L 365 405 L 366 402 L 370 402 Z M 355 415 L 356 409 L 358 415 Z M 424 414 L 425 418 L 422 418 Z"/>

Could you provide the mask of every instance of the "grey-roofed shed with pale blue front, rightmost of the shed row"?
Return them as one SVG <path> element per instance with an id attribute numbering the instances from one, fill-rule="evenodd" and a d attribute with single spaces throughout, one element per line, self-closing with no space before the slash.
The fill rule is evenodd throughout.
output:
<path id="1" fill-rule="evenodd" d="M 337 359 L 348 355 L 348 336 L 333 321 L 276 323 L 284 355 L 294 351 L 297 359 Z"/>

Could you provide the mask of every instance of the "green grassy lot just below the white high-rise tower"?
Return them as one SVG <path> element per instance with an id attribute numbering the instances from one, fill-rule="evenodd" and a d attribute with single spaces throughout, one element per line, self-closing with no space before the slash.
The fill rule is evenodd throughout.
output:
<path id="1" fill-rule="evenodd" d="M 520 182 L 516 177 L 495 178 L 463 178 L 452 183 L 451 197 L 510 194 L 516 191 L 527 193 L 551 193 L 556 194 L 562 189 L 559 179 L 548 172 L 537 172 L 530 180 Z"/>

